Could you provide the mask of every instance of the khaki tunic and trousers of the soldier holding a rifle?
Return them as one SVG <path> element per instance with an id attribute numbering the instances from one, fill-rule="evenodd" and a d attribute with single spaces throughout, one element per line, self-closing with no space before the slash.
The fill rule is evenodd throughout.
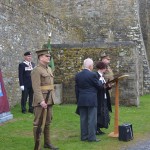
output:
<path id="1" fill-rule="evenodd" d="M 50 144 L 49 124 L 52 118 L 52 105 L 54 104 L 54 76 L 51 68 L 42 64 L 38 64 L 31 73 L 32 86 L 34 91 L 33 107 L 34 107 L 34 137 L 36 137 L 36 129 L 42 112 L 40 103 L 45 100 L 48 90 L 50 96 L 48 99 L 46 123 L 44 127 L 44 143 Z"/>

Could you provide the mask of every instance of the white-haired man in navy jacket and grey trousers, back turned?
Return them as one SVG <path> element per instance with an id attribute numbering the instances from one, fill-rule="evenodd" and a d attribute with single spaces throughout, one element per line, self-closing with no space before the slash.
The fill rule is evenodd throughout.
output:
<path id="1" fill-rule="evenodd" d="M 87 58 L 84 69 L 75 77 L 75 92 L 80 115 L 81 141 L 98 142 L 97 128 L 97 90 L 102 88 L 93 70 L 93 60 Z"/>

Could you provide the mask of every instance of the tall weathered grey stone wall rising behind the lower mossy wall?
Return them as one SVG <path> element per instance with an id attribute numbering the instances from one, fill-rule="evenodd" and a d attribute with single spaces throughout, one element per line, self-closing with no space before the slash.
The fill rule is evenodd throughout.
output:
<path id="1" fill-rule="evenodd" d="M 138 0 L 1 0 L 0 66 L 10 105 L 20 100 L 17 68 L 18 63 L 22 61 L 23 53 L 27 50 L 34 53 L 41 48 L 46 43 L 50 31 L 53 44 L 100 42 L 105 45 L 106 42 L 133 41 L 135 56 L 140 54 L 143 61 L 142 67 L 139 67 L 138 63 L 135 67 L 144 72 L 141 79 L 143 88 L 140 86 L 139 93 L 149 93 L 150 71 L 139 22 L 138 2 Z M 69 55 L 67 53 L 66 51 L 66 55 Z M 118 59 L 116 57 L 114 60 Z M 36 63 L 35 56 L 33 60 Z M 69 62 L 70 60 L 65 64 Z M 67 74 L 63 68 L 65 66 L 62 67 L 62 72 Z M 134 75 L 138 76 L 136 72 Z M 138 89 L 137 81 L 134 81 L 133 85 L 136 83 Z"/>

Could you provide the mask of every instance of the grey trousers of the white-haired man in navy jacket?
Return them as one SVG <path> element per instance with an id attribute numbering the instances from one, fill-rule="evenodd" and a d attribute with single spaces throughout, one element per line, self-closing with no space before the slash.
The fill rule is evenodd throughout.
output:
<path id="1" fill-rule="evenodd" d="M 97 128 L 97 107 L 81 106 L 80 111 L 80 128 L 81 141 L 95 141 Z"/>

